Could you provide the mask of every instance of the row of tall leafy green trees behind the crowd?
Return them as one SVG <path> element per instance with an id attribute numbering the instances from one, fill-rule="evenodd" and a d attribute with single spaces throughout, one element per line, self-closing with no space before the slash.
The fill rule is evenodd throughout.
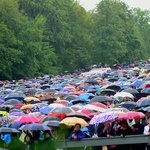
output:
<path id="1" fill-rule="evenodd" d="M 150 55 L 150 11 L 102 0 L 0 0 L 0 78 L 33 77 Z"/>

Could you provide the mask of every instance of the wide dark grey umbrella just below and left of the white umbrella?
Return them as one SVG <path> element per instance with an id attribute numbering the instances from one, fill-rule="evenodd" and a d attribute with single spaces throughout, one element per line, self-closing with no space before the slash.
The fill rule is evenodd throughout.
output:
<path id="1" fill-rule="evenodd" d="M 113 99 L 109 96 L 95 96 L 91 99 L 91 102 L 112 102 Z"/>

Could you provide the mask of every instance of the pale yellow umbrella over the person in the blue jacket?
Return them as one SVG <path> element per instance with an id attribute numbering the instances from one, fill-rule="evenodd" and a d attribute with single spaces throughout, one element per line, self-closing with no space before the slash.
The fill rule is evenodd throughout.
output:
<path id="1" fill-rule="evenodd" d="M 88 123 L 84 119 L 78 117 L 65 118 L 60 122 L 60 125 L 75 126 L 76 123 L 81 124 L 82 127 L 88 126 Z"/>

